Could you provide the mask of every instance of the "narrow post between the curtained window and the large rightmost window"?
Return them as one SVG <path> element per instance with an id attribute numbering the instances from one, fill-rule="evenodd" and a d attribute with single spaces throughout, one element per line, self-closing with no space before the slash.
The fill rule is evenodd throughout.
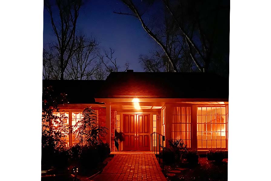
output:
<path id="1" fill-rule="evenodd" d="M 191 111 L 191 148 L 197 149 L 197 105 Z"/>

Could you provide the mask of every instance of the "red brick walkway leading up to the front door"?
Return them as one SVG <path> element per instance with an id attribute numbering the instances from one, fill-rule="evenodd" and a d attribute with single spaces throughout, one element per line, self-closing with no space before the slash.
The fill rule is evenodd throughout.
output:
<path id="1" fill-rule="evenodd" d="M 116 154 L 95 181 L 166 181 L 154 154 Z"/>

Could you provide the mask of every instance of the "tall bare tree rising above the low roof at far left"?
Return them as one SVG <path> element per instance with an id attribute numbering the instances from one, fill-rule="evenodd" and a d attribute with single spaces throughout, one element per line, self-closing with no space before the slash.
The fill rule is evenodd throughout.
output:
<path id="1" fill-rule="evenodd" d="M 64 79 L 64 71 L 74 51 L 76 51 L 74 48 L 75 31 L 81 5 L 81 0 L 56 0 L 56 8 L 58 9 L 59 16 L 55 16 L 52 10 L 54 5 L 49 0 L 44 1 L 44 7 L 50 14 L 53 33 L 57 38 L 57 43 L 54 43 L 53 47 L 57 52 L 57 59 L 55 60 L 58 61 L 57 66 L 59 66 L 60 80 Z"/>

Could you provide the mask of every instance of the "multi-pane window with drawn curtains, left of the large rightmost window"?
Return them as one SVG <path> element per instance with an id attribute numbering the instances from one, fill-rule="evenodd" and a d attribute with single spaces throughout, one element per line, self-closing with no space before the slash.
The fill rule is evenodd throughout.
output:
<path id="1" fill-rule="evenodd" d="M 191 107 L 172 108 L 172 138 L 184 140 L 187 147 L 191 146 Z"/>

